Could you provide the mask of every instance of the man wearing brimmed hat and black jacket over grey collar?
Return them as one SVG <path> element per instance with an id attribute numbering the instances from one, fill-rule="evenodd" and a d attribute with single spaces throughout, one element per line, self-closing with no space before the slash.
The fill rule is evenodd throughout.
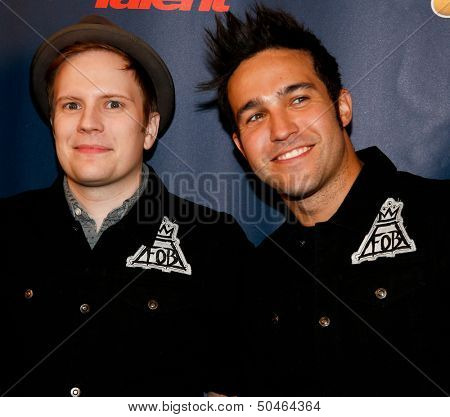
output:
<path id="1" fill-rule="evenodd" d="M 174 112 L 162 59 L 89 16 L 37 50 L 31 94 L 61 175 L 0 204 L 2 395 L 233 394 L 247 241 L 143 163 Z"/>

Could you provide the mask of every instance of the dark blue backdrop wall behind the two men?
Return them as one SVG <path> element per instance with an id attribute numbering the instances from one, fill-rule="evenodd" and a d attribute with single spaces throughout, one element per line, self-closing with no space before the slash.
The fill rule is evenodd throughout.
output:
<path id="1" fill-rule="evenodd" d="M 356 149 L 377 145 L 400 169 L 450 177 L 450 19 L 437 16 L 430 0 L 261 3 L 291 12 L 336 56 L 344 84 L 353 94 Z M 29 65 L 43 38 L 84 15 L 98 13 L 146 39 L 172 72 L 175 118 L 150 164 L 171 191 L 230 212 L 249 239 L 258 243 L 279 225 L 281 216 L 255 194 L 217 112 L 198 109 L 212 94 L 195 89 L 209 79 L 203 29 L 213 27 L 214 9 L 229 7 L 242 16 L 251 4 L 0 0 L 0 196 L 45 187 L 55 178 L 52 139 L 28 94 Z M 178 181 L 180 173 L 200 176 L 201 181 Z M 229 175 L 222 174 L 217 181 L 211 174 L 219 173 Z"/>

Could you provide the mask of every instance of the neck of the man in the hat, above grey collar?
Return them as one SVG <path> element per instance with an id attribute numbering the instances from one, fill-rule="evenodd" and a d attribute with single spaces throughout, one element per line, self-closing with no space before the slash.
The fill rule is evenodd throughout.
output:
<path id="1" fill-rule="evenodd" d="M 67 178 L 67 184 L 78 203 L 95 221 L 97 231 L 100 229 L 106 216 L 115 208 L 120 207 L 139 188 L 141 170 L 123 181 L 89 187 Z"/>

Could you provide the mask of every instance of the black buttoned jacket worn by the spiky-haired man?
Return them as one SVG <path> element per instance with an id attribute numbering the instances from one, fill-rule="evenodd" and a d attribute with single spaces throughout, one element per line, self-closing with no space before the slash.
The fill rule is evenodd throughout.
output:
<path id="1" fill-rule="evenodd" d="M 258 249 L 253 394 L 450 390 L 449 181 L 398 172 L 376 148 L 358 156 L 329 221 L 291 216 Z"/>

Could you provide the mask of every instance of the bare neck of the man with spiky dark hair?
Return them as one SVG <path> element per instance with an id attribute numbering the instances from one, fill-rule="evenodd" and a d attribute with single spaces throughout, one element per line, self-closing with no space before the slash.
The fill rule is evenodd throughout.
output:
<path id="1" fill-rule="evenodd" d="M 300 223 L 306 227 L 328 221 L 339 209 L 361 172 L 362 162 L 345 133 L 344 158 L 336 174 L 317 192 L 301 199 L 282 196 L 284 202 Z"/>

